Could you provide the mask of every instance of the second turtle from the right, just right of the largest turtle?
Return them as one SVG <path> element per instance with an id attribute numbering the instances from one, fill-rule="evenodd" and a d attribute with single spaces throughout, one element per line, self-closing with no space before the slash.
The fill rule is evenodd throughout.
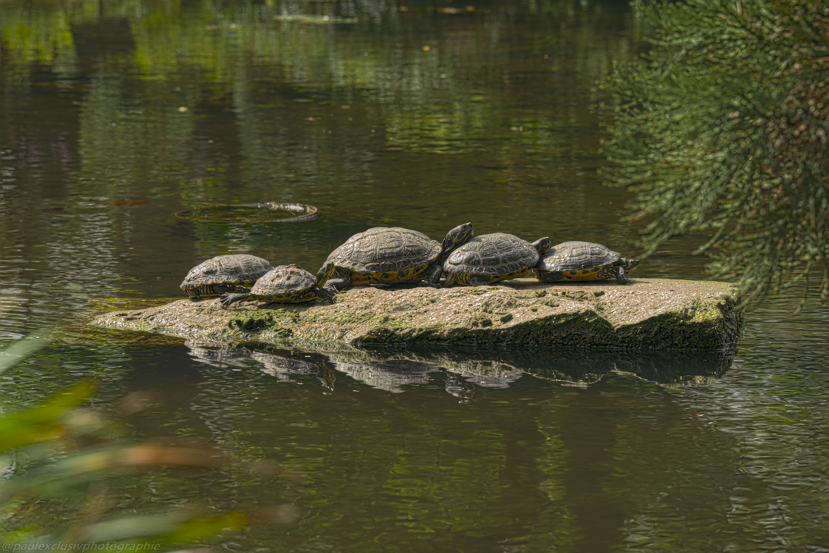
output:
<path id="1" fill-rule="evenodd" d="M 486 286 L 515 279 L 535 267 L 549 248 L 547 236 L 532 243 L 505 232 L 476 236 L 444 261 L 443 285 Z"/>

